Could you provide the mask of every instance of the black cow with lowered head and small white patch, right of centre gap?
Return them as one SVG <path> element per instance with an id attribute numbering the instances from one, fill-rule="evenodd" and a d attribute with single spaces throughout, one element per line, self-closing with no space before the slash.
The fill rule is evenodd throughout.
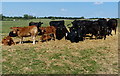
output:
<path id="1" fill-rule="evenodd" d="M 70 32 L 66 33 L 66 39 L 71 42 L 79 42 L 84 40 L 84 36 L 86 34 L 84 21 L 82 20 L 74 20 L 71 22 L 73 24 L 70 27 Z"/>

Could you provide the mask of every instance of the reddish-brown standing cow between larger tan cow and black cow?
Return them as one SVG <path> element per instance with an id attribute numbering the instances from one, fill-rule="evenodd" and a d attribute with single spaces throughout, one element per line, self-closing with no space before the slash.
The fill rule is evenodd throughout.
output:
<path id="1" fill-rule="evenodd" d="M 56 38 L 56 28 L 54 26 L 47 26 L 47 27 L 39 27 L 39 29 L 41 30 L 41 34 L 44 38 L 44 35 L 53 35 L 53 39 L 55 40 Z M 48 36 L 46 36 L 48 37 Z"/>

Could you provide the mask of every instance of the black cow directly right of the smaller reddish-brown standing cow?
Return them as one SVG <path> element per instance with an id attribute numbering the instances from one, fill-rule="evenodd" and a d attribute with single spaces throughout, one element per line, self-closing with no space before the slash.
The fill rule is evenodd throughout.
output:
<path id="1" fill-rule="evenodd" d="M 68 32 L 67 28 L 64 25 L 64 20 L 62 21 L 51 21 L 50 26 L 56 28 L 56 39 L 61 40 L 65 34 Z"/>

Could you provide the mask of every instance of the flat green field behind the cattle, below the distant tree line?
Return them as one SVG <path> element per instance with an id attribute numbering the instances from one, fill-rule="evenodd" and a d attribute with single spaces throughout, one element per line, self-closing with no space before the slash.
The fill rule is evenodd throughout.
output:
<path id="1" fill-rule="evenodd" d="M 56 19 L 60 20 L 60 19 Z M 49 26 L 49 22 L 52 21 L 51 19 L 31 19 L 31 20 L 18 20 L 18 21 L 0 21 L 2 22 L 2 33 L 9 33 L 10 27 L 23 27 L 28 26 L 29 22 L 43 22 L 42 26 Z M 72 20 L 65 20 L 65 25 L 69 24 Z"/>

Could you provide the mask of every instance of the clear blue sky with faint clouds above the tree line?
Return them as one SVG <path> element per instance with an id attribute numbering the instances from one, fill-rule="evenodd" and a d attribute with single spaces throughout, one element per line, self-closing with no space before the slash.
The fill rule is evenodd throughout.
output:
<path id="1" fill-rule="evenodd" d="M 118 2 L 3 2 L 6 16 L 118 17 Z"/>

